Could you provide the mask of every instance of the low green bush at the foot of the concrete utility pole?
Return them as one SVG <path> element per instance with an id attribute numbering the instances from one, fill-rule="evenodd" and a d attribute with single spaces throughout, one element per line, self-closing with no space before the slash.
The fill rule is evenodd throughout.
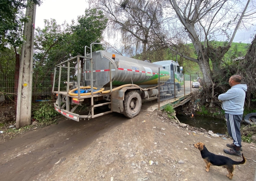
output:
<path id="1" fill-rule="evenodd" d="M 46 124 L 54 123 L 56 120 L 52 121 L 52 119 L 58 115 L 54 106 L 48 101 L 40 103 L 39 107 L 33 110 L 33 114 L 35 120 Z"/>

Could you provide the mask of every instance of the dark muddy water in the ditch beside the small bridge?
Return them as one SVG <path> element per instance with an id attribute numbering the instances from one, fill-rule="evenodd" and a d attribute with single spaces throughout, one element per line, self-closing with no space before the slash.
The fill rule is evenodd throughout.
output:
<path id="1" fill-rule="evenodd" d="M 224 134 L 227 131 L 226 121 L 224 119 L 207 118 L 202 116 L 195 116 L 191 118 L 185 115 L 176 115 L 181 123 L 196 128 L 203 128 L 207 131 L 211 130 L 213 133 Z"/>

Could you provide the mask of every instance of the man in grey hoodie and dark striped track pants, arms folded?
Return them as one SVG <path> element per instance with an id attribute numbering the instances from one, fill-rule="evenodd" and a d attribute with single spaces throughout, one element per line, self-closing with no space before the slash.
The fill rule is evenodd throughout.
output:
<path id="1" fill-rule="evenodd" d="M 233 138 L 232 144 L 227 143 L 227 146 L 231 149 L 224 149 L 223 151 L 238 156 L 242 155 L 240 152 L 242 151 L 240 122 L 243 117 L 245 92 L 247 90 L 247 85 L 241 84 L 241 80 L 240 75 L 231 76 L 228 81 L 231 89 L 218 97 L 219 100 L 223 101 L 222 109 L 225 111 L 228 133 Z"/>

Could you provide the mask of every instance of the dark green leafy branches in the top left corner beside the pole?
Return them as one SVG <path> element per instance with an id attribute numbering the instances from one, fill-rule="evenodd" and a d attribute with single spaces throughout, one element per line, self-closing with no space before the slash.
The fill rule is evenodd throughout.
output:
<path id="1" fill-rule="evenodd" d="M 32 4 L 40 5 L 42 0 L 0 0 L 0 49 L 9 44 L 14 47 L 23 44 L 23 26 L 28 17 L 21 11 Z"/>

